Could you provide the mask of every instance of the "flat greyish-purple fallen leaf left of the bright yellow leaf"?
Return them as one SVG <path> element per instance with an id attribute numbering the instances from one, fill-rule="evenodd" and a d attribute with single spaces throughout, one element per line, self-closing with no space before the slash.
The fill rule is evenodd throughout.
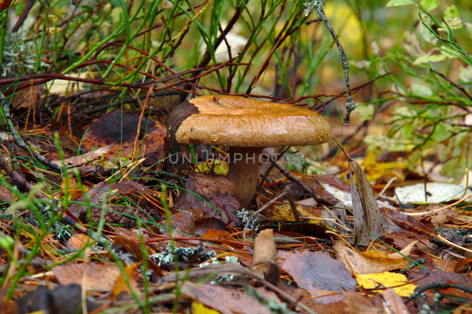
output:
<path id="1" fill-rule="evenodd" d="M 319 303 L 341 300 L 342 292 L 356 286 L 351 272 L 340 261 L 321 252 L 295 251 L 285 259 L 282 268 Z"/>

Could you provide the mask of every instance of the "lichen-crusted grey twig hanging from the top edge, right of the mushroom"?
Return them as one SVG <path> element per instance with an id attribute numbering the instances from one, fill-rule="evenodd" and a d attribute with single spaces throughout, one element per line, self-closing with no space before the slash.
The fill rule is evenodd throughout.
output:
<path id="1" fill-rule="evenodd" d="M 310 14 L 310 12 L 312 11 L 316 11 L 316 14 L 318 14 L 319 16 L 318 18 L 308 21 L 305 24 L 310 25 L 315 22 L 323 22 L 328 28 L 329 33 L 331 33 L 331 36 L 333 36 L 334 41 L 336 42 L 337 49 L 339 50 L 339 53 L 341 55 L 341 60 L 343 62 L 344 79 L 346 81 L 347 101 L 346 101 L 346 115 L 344 116 L 344 124 L 348 124 L 349 118 L 351 116 L 351 112 L 355 109 L 355 102 L 351 95 L 351 83 L 349 83 L 349 61 L 347 61 L 343 46 L 341 46 L 341 42 L 339 42 L 336 32 L 334 31 L 333 27 L 329 23 L 328 17 L 326 17 L 326 14 L 323 9 L 324 1 L 325 0 L 313 0 L 311 2 L 303 3 L 306 7 L 305 10 L 303 11 L 305 17 L 308 16 L 308 14 Z"/>

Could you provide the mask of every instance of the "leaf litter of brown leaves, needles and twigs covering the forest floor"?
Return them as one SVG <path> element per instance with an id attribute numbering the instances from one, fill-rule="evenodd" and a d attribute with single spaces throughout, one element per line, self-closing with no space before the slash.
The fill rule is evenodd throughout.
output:
<path id="1" fill-rule="evenodd" d="M 444 308 L 471 297 L 472 219 L 464 189 L 442 183 L 442 204 L 416 205 L 425 194 L 438 201 L 429 189 L 435 182 L 427 190 L 417 185 L 419 198 L 405 198 L 402 189 L 413 189 L 401 173 L 405 163 L 378 162 L 369 152 L 364 160 L 337 158 L 319 176 L 277 164 L 243 209 L 238 187 L 221 175 L 224 162 L 202 159 L 167 171 L 162 112 L 143 118 L 112 110 L 93 118 L 73 133 L 50 124 L 24 137 L 66 165 L 64 175 L 2 150 L 7 176 L 0 199 L 25 206 L 17 208 L 18 218 L 0 217 L 0 272 L 15 278 L 6 264 L 11 256 L 29 274 L 18 277 L 2 313 L 75 313 L 67 311 L 82 304 L 83 294 L 89 312 L 118 304 L 131 309 L 123 313 L 146 299 L 155 312 L 169 312 L 175 302 L 194 313 L 415 313 L 417 303 L 404 304 L 408 297 L 432 304 L 438 292 Z M 56 130 L 68 145 L 59 150 Z M 7 140 L 16 156 L 28 156 Z M 383 181 L 394 174 L 403 175 L 401 185 Z M 447 189 L 459 201 L 441 194 Z M 13 240 L 12 219 L 27 226 L 21 243 Z M 48 221 L 54 223 L 42 229 Z M 64 293 L 69 307 L 58 301 Z"/>

